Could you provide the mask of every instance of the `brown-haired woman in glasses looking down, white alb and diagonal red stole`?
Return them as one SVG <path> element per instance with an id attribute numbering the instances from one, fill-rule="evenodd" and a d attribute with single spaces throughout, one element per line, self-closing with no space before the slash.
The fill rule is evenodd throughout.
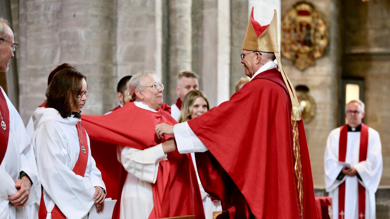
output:
<path id="1" fill-rule="evenodd" d="M 42 184 L 39 219 L 86 218 L 93 204 L 97 212 L 103 210 L 105 184 L 80 116 L 88 94 L 83 74 L 62 69 L 46 90 L 46 107 L 33 114 L 32 142 Z"/>

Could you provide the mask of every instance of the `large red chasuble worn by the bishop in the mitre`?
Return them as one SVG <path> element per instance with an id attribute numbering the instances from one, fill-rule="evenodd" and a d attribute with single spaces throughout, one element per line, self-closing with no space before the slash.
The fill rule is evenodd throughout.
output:
<path id="1" fill-rule="evenodd" d="M 302 120 L 298 121 L 303 177 L 300 205 L 294 170 L 291 101 L 277 69 L 257 75 L 188 125 L 209 152 L 196 153 L 207 193 L 230 218 L 317 218 L 313 179 Z M 303 217 L 300 208 L 303 207 Z"/>

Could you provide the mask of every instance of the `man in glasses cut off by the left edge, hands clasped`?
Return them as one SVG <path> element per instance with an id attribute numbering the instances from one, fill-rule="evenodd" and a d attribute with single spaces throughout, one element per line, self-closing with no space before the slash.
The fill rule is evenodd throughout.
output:
<path id="1" fill-rule="evenodd" d="M 0 18 L 0 72 L 8 71 L 17 47 L 8 22 Z M 25 218 L 24 207 L 35 203 L 41 189 L 35 156 L 18 111 L 0 88 L 0 218 Z"/>

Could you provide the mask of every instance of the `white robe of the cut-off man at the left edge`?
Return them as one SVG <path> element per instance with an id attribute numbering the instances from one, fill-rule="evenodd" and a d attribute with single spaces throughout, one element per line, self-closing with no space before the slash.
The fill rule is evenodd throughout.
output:
<path id="1" fill-rule="evenodd" d="M 38 175 L 33 168 L 35 156 L 32 152 L 31 140 L 18 111 L 8 99 L 3 88 L 1 88 L 1 92 L 9 109 L 9 126 L 7 127 L 9 138 L 7 151 L 0 165 L 0 219 L 26 218 L 28 215 L 26 206 L 37 201 L 37 191 L 40 189 Z M 32 186 L 25 207 L 15 208 L 9 203 L 8 196 L 16 193 L 15 182 L 18 180 L 21 171 L 24 171 L 30 177 Z"/>

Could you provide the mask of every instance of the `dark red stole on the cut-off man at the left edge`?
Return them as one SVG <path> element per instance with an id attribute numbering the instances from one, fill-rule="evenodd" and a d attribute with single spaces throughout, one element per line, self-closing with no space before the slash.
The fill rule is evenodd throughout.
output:
<path id="1" fill-rule="evenodd" d="M 3 162 L 9 139 L 9 110 L 7 100 L 0 90 L 0 164 Z"/>

